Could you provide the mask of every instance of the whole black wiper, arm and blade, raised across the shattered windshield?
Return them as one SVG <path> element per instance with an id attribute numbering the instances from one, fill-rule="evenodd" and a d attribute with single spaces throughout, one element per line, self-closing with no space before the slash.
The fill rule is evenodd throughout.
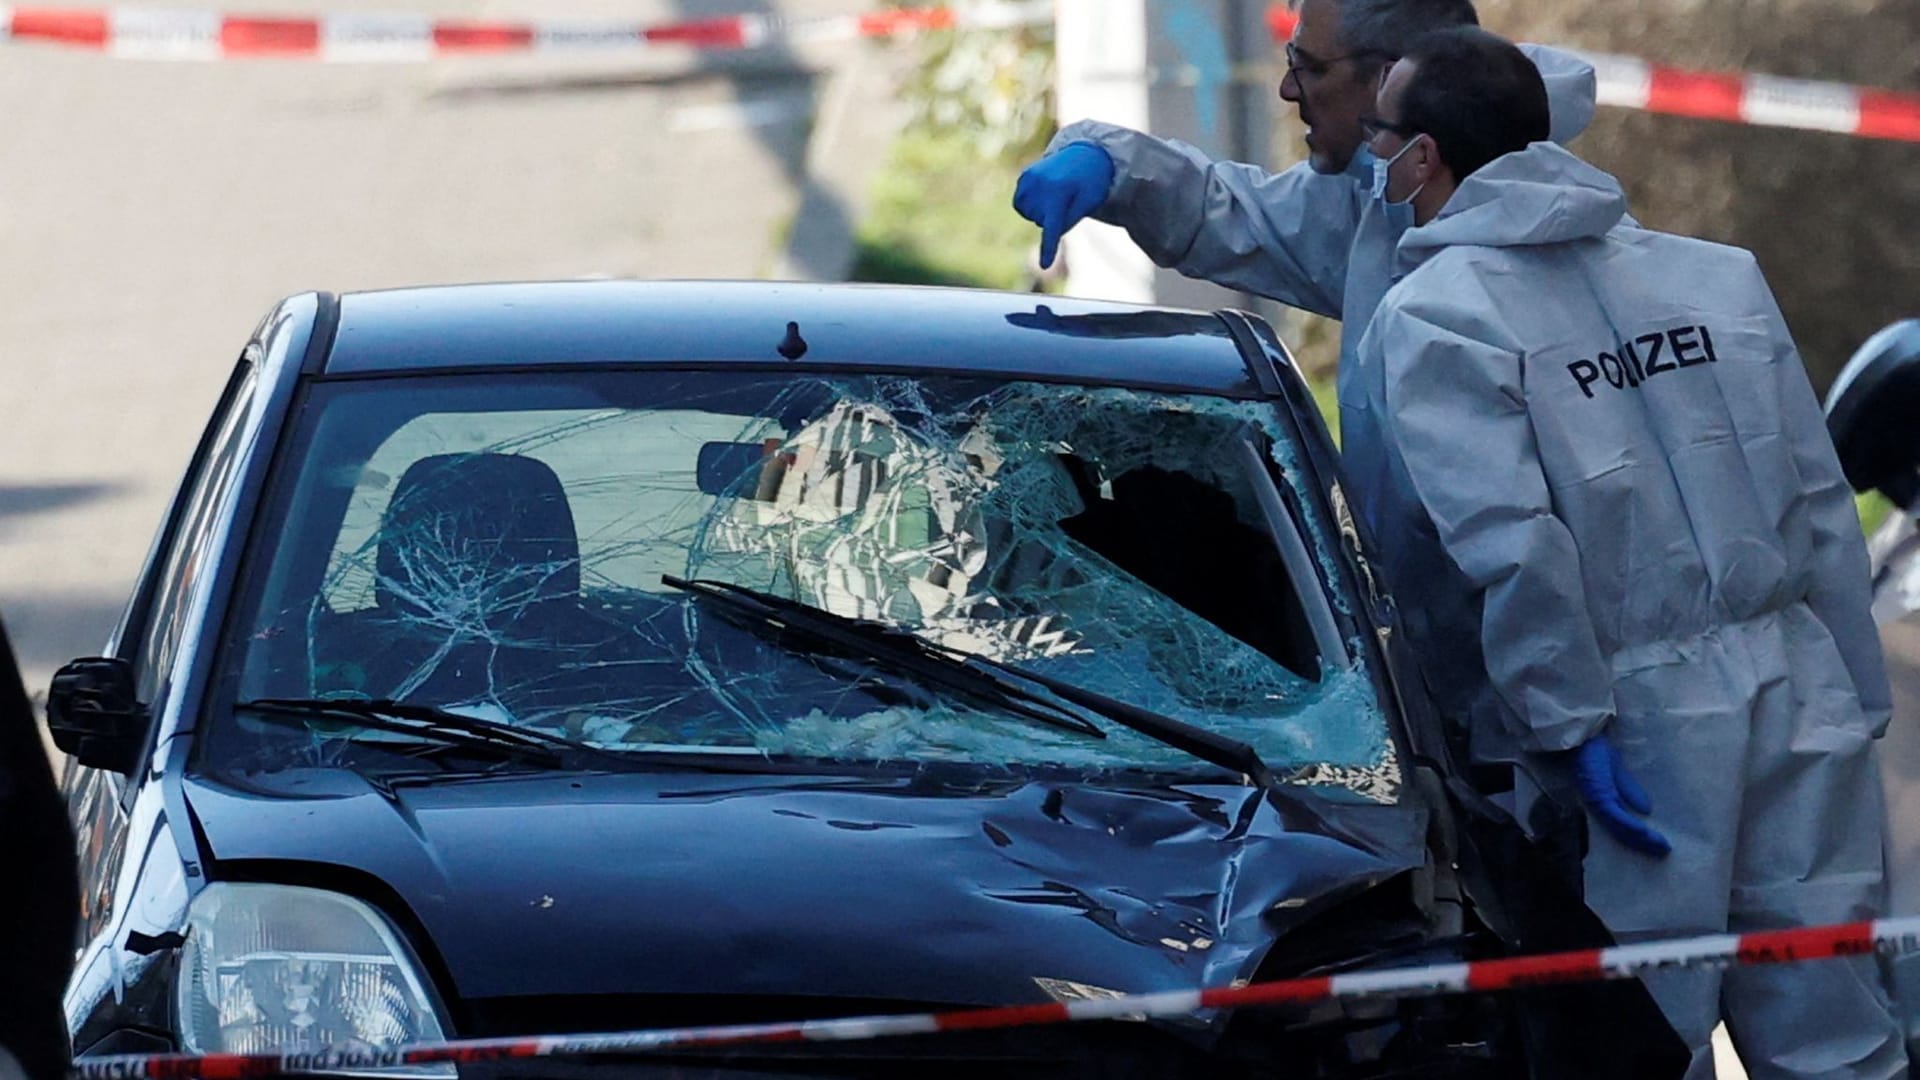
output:
<path id="1" fill-rule="evenodd" d="M 1004 661 L 987 659 L 952 646 L 929 642 L 927 638 L 902 626 L 849 619 L 847 615 L 835 615 L 833 611 L 824 611 L 810 603 L 801 603 L 799 600 L 747 588 L 743 584 L 724 580 L 685 580 L 672 575 L 662 575 L 660 580 L 672 588 L 726 603 L 737 611 L 755 613 L 764 621 L 799 630 L 814 636 L 816 640 L 854 650 L 858 655 L 868 659 L 924 671 L 933 678 L 952 680 L 958 676 L 968 680 L 985 680 L 973 682 L 970 688 L 991 688 L 993 694 L 1004 698 L 1002 707 L 1020 703 L 1046 707 L 1050 709 L 1050 713 L 1044 715 L 1046 723 L 1058 723 L 1058 719 L 1068 717 L 1068 713 L 1060 713 L 1058 705 L 1048 701 L 1039 692 L 996 678 L 995 675 L 981 671 L 981 667 L 1000 671 L 1023 682 L 1043 686 L 1062 701 L 1069 701 L 1117 724 L 1133 728 L 1146 738 L 1183 749 L 1200 761 L 1233 769 L 1261 788 L 1271 788 L 1275 784 L 1273 771 L 1260 759 L 1260 753 L 1252 746 L 1210 732 L 1202 726 L 1188 724 L 1187 721 L 1177 721 L 1173 717 L 1154 713 L 1152 709 L 1142 709 L 1139 705 L 1119 701 L 1117 698 L 1108 698 L 1106 694 L 1087 690 L 1085 686 L 1077 686 L 1073 682 L 1039 675 Z M 1021 715 L 1033 713 L 1023 711 Z M 1106 732 L 1100 732 L 1102 738 L 1104 734 Z"/>

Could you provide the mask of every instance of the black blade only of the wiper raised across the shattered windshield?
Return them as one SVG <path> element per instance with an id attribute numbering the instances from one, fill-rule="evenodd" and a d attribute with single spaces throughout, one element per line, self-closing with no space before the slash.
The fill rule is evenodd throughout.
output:
<path id="1" fill-rule="evenodd" d="M 941 686 L 966 698 L 985 700 L 996 709 L 1069 730 L 1073 734 L 1083 734 L 1087 738 L 1106 738 L 1106 732 L 1100 730 L 1098 724 L 1058 709 L 1052 701 L 1023 686 L 1006 682 L 1004 678 L 970 667 L 968 663 L 956 661 L 945 653 L 929 651 L 929 642 L 918 634 L 902 632 L 877 623 L 862 623 L 858 619 L 849 619 L 847 615 L 835 615 L 833 611 L 824 611 L 810 603 L 801 603 L 799 600 L 760 592 L 743 584 L 708 578 L 687 580 L 674 575 L 660 575 L 660 582 L 726 605 L 733 611 L 753 615 L 760 619 L 762 625 L 797 630 L 812 636 L 814 640 L 847 650 L 858 657 L 891 665 L 933 686 Z"/>

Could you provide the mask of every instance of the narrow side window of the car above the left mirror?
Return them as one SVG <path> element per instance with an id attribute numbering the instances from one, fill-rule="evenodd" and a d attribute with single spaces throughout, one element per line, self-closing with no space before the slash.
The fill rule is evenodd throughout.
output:
<path id="1" fill-rule="evenodd" d="M 188 598 L 213 542 L 215 515 L 240 475 L 242 432 L 257 375 L 255 350 L 250 348 L 221 394 L 180 488 L 169 534 L 148 569 L 150 578 L 142 582 L 140 605 L 129 625 L 132 651 L 127 659 L 132 663 L 134 692 L 150 705 L 159 701 L 173 673 L 186 632 Z"/>

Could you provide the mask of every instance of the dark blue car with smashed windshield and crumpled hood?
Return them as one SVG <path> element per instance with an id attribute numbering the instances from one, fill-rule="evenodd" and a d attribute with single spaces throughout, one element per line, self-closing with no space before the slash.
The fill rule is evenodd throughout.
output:
<path id="1" fill-rule="evenodd" d="M 106 653 L 50 696 L 81 765 L 83 1055 L 1601 944 L 1567 886 L 1578 832 L 1555 859 L 1450 765 L 1306 386 L 1231 311 L 296 296 L 234 367 Z M 1624 984 L 468 1072 L 1674 1059 Z"/>

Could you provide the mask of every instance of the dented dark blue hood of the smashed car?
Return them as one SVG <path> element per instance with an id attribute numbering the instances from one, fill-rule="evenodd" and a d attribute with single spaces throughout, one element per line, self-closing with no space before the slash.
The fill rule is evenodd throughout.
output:
<path id="1" fill-rule="evenodd" d="M 265 859 L 246 872 L 371 874 L 467 999 L 1225 986 L 1325 903 L 1421 865 L 1425 834 L 1413 803 L 977 774 L 286 769 L 192 778 L 188 801 L 211 878 Z"/>

